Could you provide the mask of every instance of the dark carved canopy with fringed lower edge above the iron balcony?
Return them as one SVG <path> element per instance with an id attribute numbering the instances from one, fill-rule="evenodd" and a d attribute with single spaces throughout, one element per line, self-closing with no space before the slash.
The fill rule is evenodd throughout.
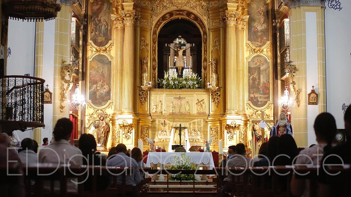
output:
<path id="1" fill-rule="evenodd" d="M 22 21 L 52 20 L 61 10 L 55 0 L 7 0 L 4 8 L 10 19 Z"/>

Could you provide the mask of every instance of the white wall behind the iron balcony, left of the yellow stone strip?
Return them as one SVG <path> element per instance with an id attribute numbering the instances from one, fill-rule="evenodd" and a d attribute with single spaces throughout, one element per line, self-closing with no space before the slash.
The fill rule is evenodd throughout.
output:
<path id="1" fill-rule="evenodd" d="M 6 75 L 34 76 L 34 37 L 35 22 L 8 20 L 8 47 L 11 55 L 7 57 Z M 16 131 L 21 140 L 33 138 L 33 131 Z"/>

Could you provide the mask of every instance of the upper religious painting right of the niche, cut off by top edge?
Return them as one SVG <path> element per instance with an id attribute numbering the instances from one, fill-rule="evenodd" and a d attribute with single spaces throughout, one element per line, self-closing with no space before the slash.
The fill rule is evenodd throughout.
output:
<path id="1" fill-rule="evenodd" d="M 269 3 L 266 0 L 255 0 L 247 4 L 248 41 L 254 47 L 263 47 L 269 41 Z"/>

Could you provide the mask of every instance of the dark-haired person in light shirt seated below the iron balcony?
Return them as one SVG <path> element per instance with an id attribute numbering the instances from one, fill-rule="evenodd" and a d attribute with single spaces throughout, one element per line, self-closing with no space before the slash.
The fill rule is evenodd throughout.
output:
<path id="1" fill-rule="evenodd" d="M 34 152 L 34 142 L 31 138 L 24 138 L 19 148 L 18 156 L 24 164 L 37 164 L 38 154 Z"/>

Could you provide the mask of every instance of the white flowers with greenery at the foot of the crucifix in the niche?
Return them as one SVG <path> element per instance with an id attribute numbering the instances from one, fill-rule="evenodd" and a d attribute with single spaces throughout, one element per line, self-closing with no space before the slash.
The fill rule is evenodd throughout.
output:
<path id="1" fill-rule="evenodd" d="M 202 86 L 200 77 L 190 69 L 184 70 L 182 78 L 178 77 L 176 69 L 171 69 L 165 72 L 164 79 L 158 79 L 158 82 L 166 89 L 196 89 Z"/>

